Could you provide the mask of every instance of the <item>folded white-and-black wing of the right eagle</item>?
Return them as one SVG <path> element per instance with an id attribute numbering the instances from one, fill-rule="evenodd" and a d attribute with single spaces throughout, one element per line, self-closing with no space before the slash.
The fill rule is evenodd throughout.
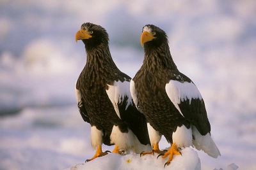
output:
<path id="1" fill-rule="evenodd" d="M 195 125 L 200 134 L 205 135 L 211 131 L 204 99 L 192 81 L 170 80 L 165 89 L 175 108 Z"/>

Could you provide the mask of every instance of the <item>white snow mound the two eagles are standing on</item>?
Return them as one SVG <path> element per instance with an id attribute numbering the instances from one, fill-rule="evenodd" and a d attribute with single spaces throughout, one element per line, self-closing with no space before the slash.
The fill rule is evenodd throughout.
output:
<path id="1" fill-rule="evenodd" d="M 116 153 L 109 153 L 104 157 L 99 157 L 91 162 L 84 164 L 77 164 L 65 170 L 82 170 L 82 169 L 201 169 L 200 159 L 197 152 L 192 148 L 184 148 L 181 150 L 182 156 L 175 155 L 169 166 L 165 166 L 168 158 L 163 159 L 158 154 L 145 155 L 140 157 L 138 154 L 118 155 Z"/>

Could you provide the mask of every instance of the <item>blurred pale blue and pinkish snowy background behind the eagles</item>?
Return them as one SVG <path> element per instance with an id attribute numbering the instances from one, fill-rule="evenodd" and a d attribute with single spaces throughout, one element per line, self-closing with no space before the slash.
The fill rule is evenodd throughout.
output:
<path id="1" fill-rule="evenodd" d="M 202 169 L 256 168 L 255 0 L 0 0 L 0 169 L 65 169 L 94 154 L 74 96 L 86 62 L 74 36 L 84 22 L 106 28 L 113 59 L 130 76 L 143 61 L 142 27 L 166 31 L 221 151 L 218 159 L 198 152 Z"/>

